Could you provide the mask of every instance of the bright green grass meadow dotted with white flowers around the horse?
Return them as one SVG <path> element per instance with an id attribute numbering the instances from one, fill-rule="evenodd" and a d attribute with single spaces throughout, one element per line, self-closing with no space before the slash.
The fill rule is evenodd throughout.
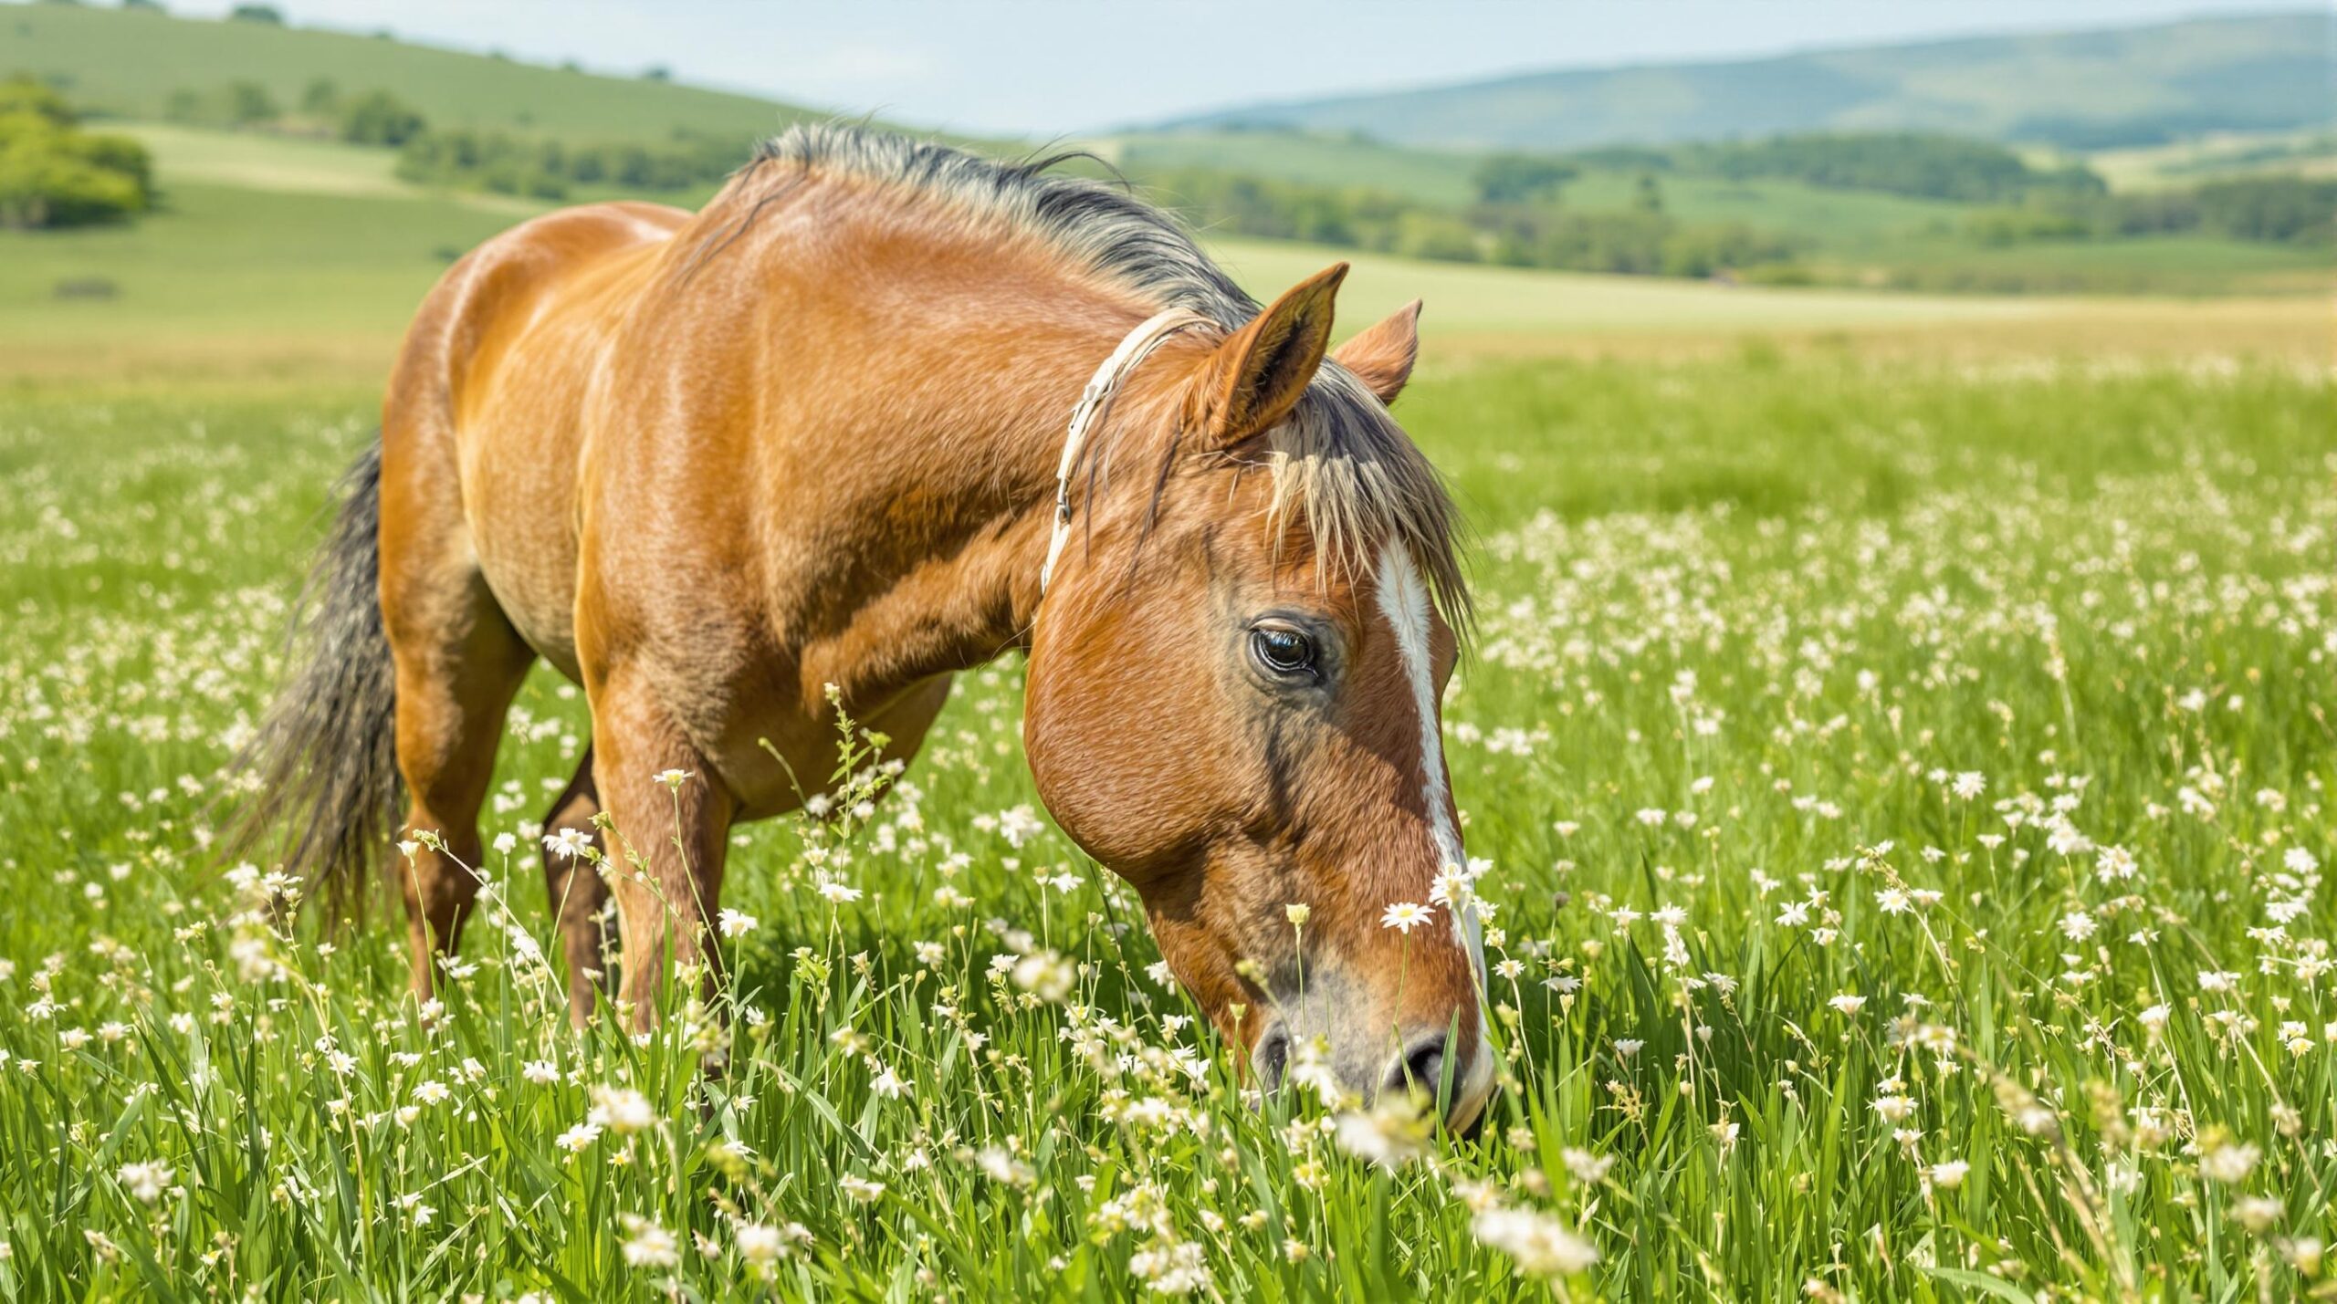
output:
<path id="1" fill-rule="evenodd" d="M 1398 1171 L 1318 1103 L 1243 1101 L 1131 893 L 1052 827 L 1007 844 L 1012 661 L 851 837 L 865 900 L 811 890 L 797 830 L 741 832 L 720 1077 L 680 1010 L 647 1045 L 568 1033 L 507 932 L 547 937 L 526 820 L 582 748 L 549 675 L 444 1012 L 383 921 L 325 946 L 259 909 L 203 853 L 217 769 L 369 404 L 0 404 L 0 1297 L 1112 1299 L 1164 1255 L 1225 1299 L 2330 1281 L 2293 1267 L 2337 1239 L 2325 376 L 1419 381 L 1398 416 L 1482 535 L 1447 736 L 1514 970 L 1486 1136 Z M 1047 953 L 1070 1000 L 996 967 Z M 596 1089 L 647 1126 L 570 1154 Z M 1475 1232 L 1493 1204 L 1596 1264 L 1521 1271 Z M 741 1225 L 809 1243 L 762 1281 Z"/>

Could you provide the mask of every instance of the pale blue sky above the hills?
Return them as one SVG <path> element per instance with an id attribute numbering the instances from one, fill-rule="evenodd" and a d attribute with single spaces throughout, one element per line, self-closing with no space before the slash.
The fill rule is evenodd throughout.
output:
<path id="1" fill-rule="evenodd" d="M 1617 63 L 2267 12 L 2281 0 L 271 0 L 297 26 L 1056 136 Z M 2318 0 L 2328 2 L 2328 0 Z M 231 0 L 166 0 L 217 14 Z"/>

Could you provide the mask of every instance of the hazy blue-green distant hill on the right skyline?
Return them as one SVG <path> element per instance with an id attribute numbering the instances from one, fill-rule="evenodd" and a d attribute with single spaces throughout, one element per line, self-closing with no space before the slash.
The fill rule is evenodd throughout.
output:
<path id="1" fill-rule="evenodd" d="M 2337 119 L 2328 12 L 1830 49 L 1743 63 L 1533 72 L 1218 110 L 1166 126 L 1360 131 L 1570 150 L 1781 131 L 1951 131 L 2078 150 Z"/>

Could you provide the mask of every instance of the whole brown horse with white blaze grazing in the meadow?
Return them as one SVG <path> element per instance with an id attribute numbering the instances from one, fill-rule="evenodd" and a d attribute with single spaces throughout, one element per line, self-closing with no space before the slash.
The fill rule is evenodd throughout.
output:
<path id="1" fill-rule="evenodd" d="M 951 673 L 1021 647 L 1047 809 L 1260 1075 L 1323 1038 L 1346 1087 L 1449 1075 L 1472 1119 L 1493 1056 L 1440 741 L 1465 594 L 1386 409 L 1419 306 L 1325 360 L 1344 271 L 1260 311 L 1117 189 L 841 126 L 696 215 L 488 241 L 407 332 L 248 827 L 292 825 L 318 886 L 435 832 L 395 862 L 428 993 L 542 657 L 591 703 L 547 827 L 605 811 L 650 865 L 547 855 L 575 1014 L 615 890 L 640 1024 L 664 960 L 713 958 L 729 825 L 830 771 L 827 685 L 909 757 Z M 1117 400 L 1066 453 L 1091 376 Z M 1442 904 L 1414 932 L 1393 902 Z"/>

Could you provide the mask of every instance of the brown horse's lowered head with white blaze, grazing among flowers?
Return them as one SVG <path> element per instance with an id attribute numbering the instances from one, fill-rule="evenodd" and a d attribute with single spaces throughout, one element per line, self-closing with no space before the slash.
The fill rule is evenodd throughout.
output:
<path id="1" fill-rule="evenodd" d="M 1080 502 L 1026 743 L 1047 809 L 1136 886 L 1260 1080 L 1325 1063 L 1376 1096 L 1449 1075 L 1461 1126 L 1493 1084 L 1440 738 L 1465 598 L 1451 507 L 1386 411 L 1416 306 L 1325 367 L 1344 271 L 1129 376 L 1091 456 L 1143 472 Z"/>

